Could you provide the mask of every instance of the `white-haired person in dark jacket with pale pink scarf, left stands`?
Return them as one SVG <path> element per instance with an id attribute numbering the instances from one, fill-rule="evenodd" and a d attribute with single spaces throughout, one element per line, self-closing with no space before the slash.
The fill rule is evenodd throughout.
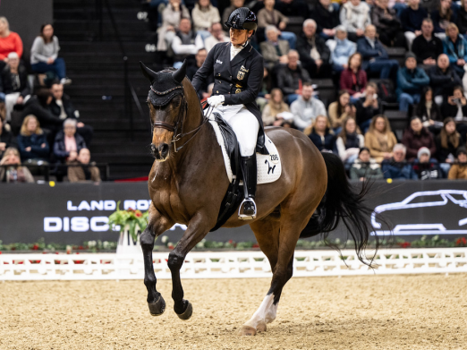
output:
<path id="1" fill-rule="evenodd" d="M 78 157 L 81 149 L 86 149 L 86 143 L 76 132 L 76 120 L 65 119 L 64 130 L 55 136 L 54 155 L 60 162 L 72 162 Z"/>

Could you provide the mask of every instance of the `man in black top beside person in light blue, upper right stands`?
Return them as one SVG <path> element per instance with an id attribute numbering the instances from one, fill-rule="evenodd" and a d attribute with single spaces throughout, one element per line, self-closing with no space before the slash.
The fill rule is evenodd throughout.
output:
<path id="1" fill-rule="evenodd" d="M 443 53 L 443 42 L 433 34 L 433 22 L 426 18 L 421 23 L 421 35 L 413 40 L 412 52 L 417 63 L 424 67 L 437 64 L 437 56 Z"/>

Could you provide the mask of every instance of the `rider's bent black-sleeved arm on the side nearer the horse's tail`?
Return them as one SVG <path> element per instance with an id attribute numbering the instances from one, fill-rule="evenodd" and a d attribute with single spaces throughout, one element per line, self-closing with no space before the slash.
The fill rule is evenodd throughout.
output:
<path id="1" fill-rule="evenodd" d="M 253 60 L 250 66 L 250 75 L 246 81 L 246 90 L 238 94 L 224 95 L 225 105 L 244 105 L 254 102 L 258 97 L 261 90 L 261 83 L 263 81 L 264 66 L 263 57 L 259 56 Z"/>

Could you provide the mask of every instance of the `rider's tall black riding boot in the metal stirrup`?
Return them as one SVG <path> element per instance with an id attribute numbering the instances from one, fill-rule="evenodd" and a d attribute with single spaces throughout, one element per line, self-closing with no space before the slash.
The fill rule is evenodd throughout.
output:
<path id="1" fill-rule="evenodd" d="M 253 153 L 250 157 L 242 157 L 242 174 L 243 174 L 243 192 L 245 193 L 245 199 L 243 203 L 243 215 L 239 218 L 243 220 L 250 220 L 256 218 L 256 182 L 257 182 L 257 165 L 256 165 L 256 153 Z M 242 210 L 242 208 L 240 209 Z"/>

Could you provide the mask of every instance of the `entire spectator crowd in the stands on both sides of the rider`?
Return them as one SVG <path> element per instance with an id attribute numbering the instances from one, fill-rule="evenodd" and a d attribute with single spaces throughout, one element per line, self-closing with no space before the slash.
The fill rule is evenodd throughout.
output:
<path id="1" fill-rule="evenodd" d="M 229 41 L 228 15 L 248 6 L 259 21 L 251 44 L 264 58 L 257 99 L 264 124 L 305 132 L 319 150 L 342 158 L 352 179 L 467 178 L 464 1 L 148 3 L 163 64 L 179 67 L 187 60 L 189 78 L 212 47 Z M 293 27 L 297 22 L 300 30 Z M 52 25 L 44 25 L 25 65 L 21 38 L 0 18 L 0 152 L 17 147 L 10 161 L 51 162 L 62 177 L 60 165 L 78 165 L 75 173 L 89 180 L 95 177 L 89 170 L 92 128 L 79 121 L 64 94 L 71 80 L 59 50 Z M 28 73 L 38 74 L 38 86 L 30 87 Z M 320 95 L 325 81 L 338 87 L 335 98 Z M 199 91 L 201 100 L 210 96 L 212 82 Z M 393 132 L 387 111 L 397 112 L 399 121 L 403 116 L 405 130 Z M 16 138 L 13 115 L 21 115 Z"/>

